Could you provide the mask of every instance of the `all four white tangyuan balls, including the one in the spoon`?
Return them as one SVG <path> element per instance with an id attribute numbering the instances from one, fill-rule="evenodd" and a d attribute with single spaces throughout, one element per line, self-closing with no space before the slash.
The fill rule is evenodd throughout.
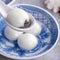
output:
<path id="1" fill-rule="evenodd" d="M 6 20 L 13 25 L 14 27 L 17 28 L 28 28 L 27 25 L 30 24 L 30 17 L 28 13 L 22 9 L 13 9 L 10 11 L 7 15 Z M 25 27 L 25 25 L 27 27 Z M 38 24 L 36 21 L 33 25 L 33 27 L 26 31 L 26 32 L 21 32 L 21 31 L 16 31 L 9 26 L 5 28 L 5 36 L 7 39 L 10 41 L 15 41 L 17 40 L 18 46 L 23 49 L 23 50 L 32 50 L 34 49 L 37 44 L 37 35 L 41 32 L 41 25 Z"/>

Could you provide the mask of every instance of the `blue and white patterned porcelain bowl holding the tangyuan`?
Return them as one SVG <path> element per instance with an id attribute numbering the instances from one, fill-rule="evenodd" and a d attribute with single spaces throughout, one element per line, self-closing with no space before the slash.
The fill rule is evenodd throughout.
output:
<path id="1" fill-rule="evenodd" d="M 41 33 L 36 36 L 38 45 L 31 51 L 25 51 L 19 48 L 17 41 L 9 41 L 4 35 L 7 25 L 0 15 L 0 54 L 13 59 L 32 59 L 52 50 L 59 39 L 59 26 L 56 19 L 41 7 L 27 4 L 16 4 L 13 6 L 31 13 L 38 22 L 42 23 Z"/>

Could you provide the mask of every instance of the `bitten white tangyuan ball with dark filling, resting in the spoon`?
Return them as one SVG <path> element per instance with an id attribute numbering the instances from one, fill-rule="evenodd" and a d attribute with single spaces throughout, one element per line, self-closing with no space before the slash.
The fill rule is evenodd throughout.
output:
<path id="1" fill-rule="evenodd" d="M 29 16 L 26 11 L 15 8 L 8 13 L 6 20 L 15 27 L 22 27 L 24 26 L 25 20 L 29 22 Z"/>

